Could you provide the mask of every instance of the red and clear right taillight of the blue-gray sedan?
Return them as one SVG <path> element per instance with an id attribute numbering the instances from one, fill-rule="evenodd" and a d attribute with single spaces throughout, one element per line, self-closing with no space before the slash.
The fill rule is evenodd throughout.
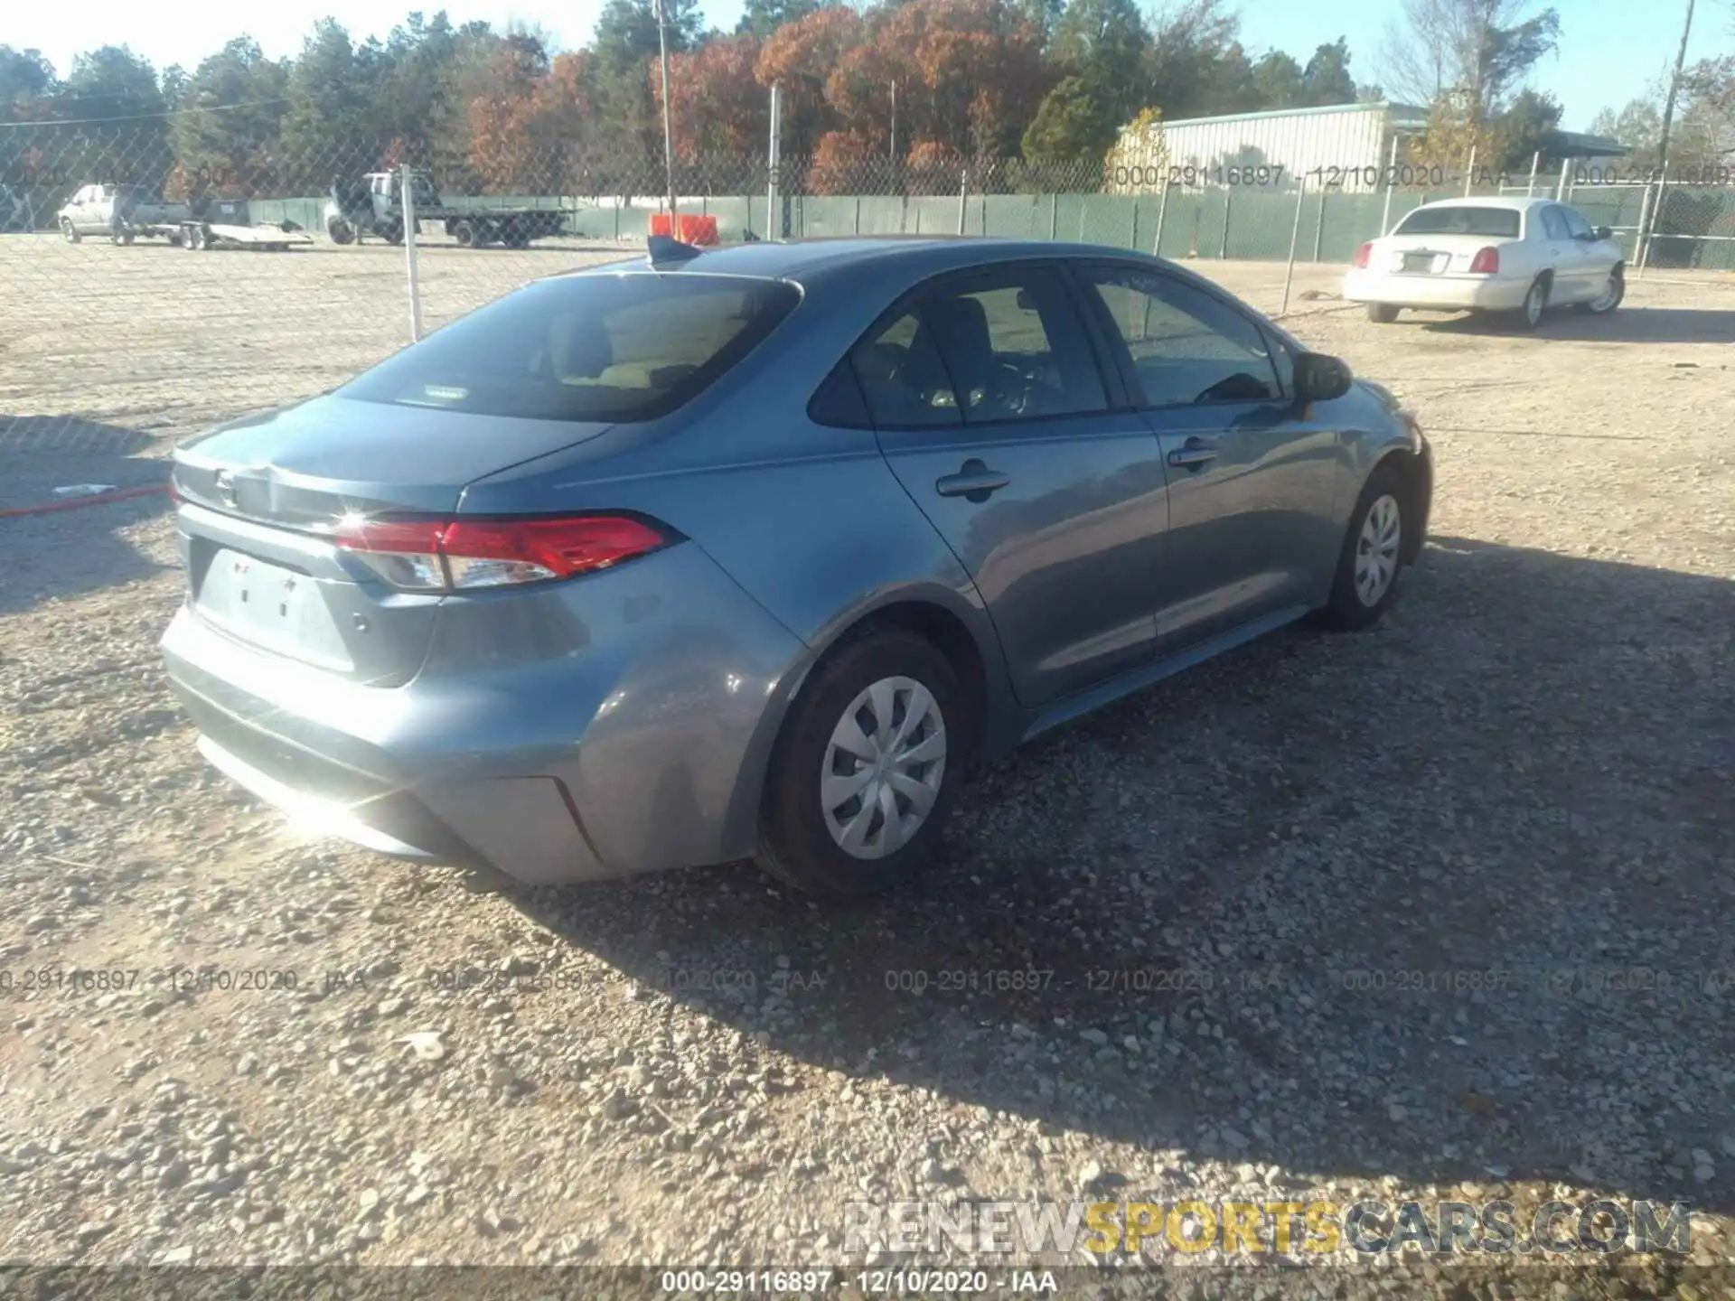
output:
<path id="1" fill-rule="evenodd" d="M 666 543 L 659 529 L 626 515 L 354 520 L 337 536 L 392 586 L 455 592 L 588 574 Z"/>

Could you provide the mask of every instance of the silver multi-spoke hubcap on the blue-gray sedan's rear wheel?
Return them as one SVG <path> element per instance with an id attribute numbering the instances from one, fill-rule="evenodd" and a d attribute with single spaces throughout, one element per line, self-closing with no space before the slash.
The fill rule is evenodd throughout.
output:
<path id="1" fill-rule="evenodd" d="M 826 744 L 826 831 L 855 859 L 895 853 L 928 820 L 944 777 L 940 706 L 914 678 L 880 678 L 850 703 Z"/>

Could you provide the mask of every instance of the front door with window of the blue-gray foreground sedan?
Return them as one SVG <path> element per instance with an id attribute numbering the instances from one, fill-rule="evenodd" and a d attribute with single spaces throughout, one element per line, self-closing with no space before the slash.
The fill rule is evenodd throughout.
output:
<path id="1" fill-rule="evenodd" d="M 1131 264 L 1079 269 L 1169 475 L 1164 654 L 1315 604 L 1343 543 L 1339 434 L 1291 394 L 1293 357 L 1237 304 Z"/>

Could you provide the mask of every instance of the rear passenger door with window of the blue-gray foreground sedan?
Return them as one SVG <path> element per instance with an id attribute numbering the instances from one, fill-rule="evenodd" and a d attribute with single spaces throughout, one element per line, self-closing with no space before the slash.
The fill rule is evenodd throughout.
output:
<path id="1" fill-rule="evenodd" d="M 1050 264 L 949 274 L 850 361 L 899 482 L 982 593 L 1022 704 L 1149 657 L 1157 439 Z"/>

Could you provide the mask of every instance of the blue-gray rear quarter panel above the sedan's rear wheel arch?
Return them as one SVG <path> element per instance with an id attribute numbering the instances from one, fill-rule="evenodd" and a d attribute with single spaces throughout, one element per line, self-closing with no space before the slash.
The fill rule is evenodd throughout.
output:
<path id="1" fill-rule="evenodd" d="M 730 845 L 751 845 L 777 729 L 812 666 L 857 623 L 900 602 L 949 611 L 985 668 L 987 737 L 1017 734 L 982 598 L 911 501 L 873 430 L 814 423 L 807 402 L 895 297 L 855 283 L 809 293 L 741 366 L 682 411 L 470 484 L 465 512 L 635 510 L 677 529 L 798 644 L 763 709 L 730 801 Z M 623 574 L 625 576 L 625 574 Z M 732 744 L 732 742 L 730 742 Z"/>

